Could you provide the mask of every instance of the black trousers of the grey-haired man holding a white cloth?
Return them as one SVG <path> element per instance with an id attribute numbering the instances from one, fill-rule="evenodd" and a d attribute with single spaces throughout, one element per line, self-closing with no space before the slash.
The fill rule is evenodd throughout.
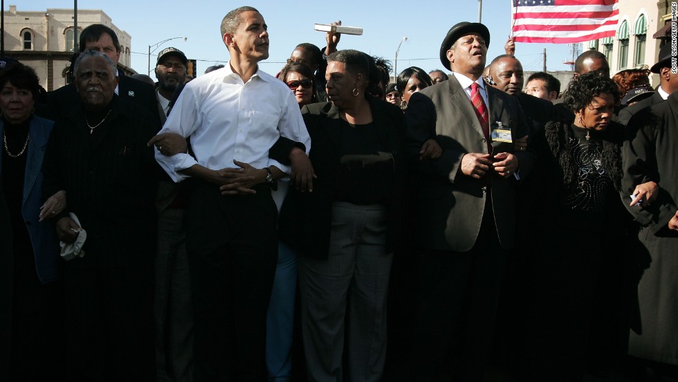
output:
<path id="1" fill-rule="evenodd" d="M 127 266 L 66 264 L 68 381 L 154 380 L 154 246 L 138 256 Z"/>

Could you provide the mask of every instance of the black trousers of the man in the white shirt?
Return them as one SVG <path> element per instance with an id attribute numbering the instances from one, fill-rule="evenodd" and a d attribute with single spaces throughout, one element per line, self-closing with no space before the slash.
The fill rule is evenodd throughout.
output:
<path id="1" fill-rule="evenodd" d="M 194 377 L 266 381 L 266 310 L 277 264 L 271 192 L 222 196 L 197 183 L 187 210 L 194 302 Z"/>

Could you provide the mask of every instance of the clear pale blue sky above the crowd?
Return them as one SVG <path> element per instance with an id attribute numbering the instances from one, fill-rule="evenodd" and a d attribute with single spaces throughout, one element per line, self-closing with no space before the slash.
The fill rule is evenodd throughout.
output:
<path id="1" fill-rule="evenodd" d="M 68 0 L 5 1 L 17 4 L 18 10 L 46 10 L 73 8 Z M 80 9 L 102 9 L 118 28 L 127 31 L 131 41 L 131 67 L 146 73 L 148 46 L 177 36 L 163 44 L 174 46 L 187 57 L 198 60 L 201 74 L 210 65 L 228 61 L 228 51 L 221 42 L 219 26 L 226 13 L 239 6 L 257 8 L 268 24 L 271 36 L 270 57 L 261 67 L 268 73 L 279 71 L 293 48 L 301 42 L 311 42 L 323 48 L 324 33 L 313 30 L 315 23 L 329 23 L 340 19 L 347 26 L 362 27 L 362 36 L 342 36 L 339 48 L 353 48 L 393 61 L 398 43 L 403 36 L 407 42 L 398 53 L 398 71 L 407 66 L 419 66 L 426 71 L 442 68 L 438 59 L 440 43 L 449 28 L 459 21 L 477 21 L 477 0 L 463 1 L 144 1 L 80 0 Z M 444 5 L 449 4 L 449 5 Z M 504 43 L 511 29 L 511 1 L 484 0 L 482 21 L 491 33 L 488 62 L 504 53 Z M 547 48 L 547 69 L 567 71 L 569 47 L 560 44 L 517 44 L 516 56 L 526 71 L 542 69 L 542 51 Z M 153 77 L 153 75 L 152 75 Z"/>

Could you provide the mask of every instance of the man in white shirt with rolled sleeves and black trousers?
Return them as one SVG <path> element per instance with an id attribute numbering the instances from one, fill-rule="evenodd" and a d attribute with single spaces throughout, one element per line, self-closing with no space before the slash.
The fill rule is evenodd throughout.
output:
<path id="1" fill-rule="evenodd" d="M 195 381 L 266 381 L 266 309 L 277 262 L 270 187 L 289 172 L 268 150 L 280 136 L 310 149 L 293 93 L 259 70 L 268 58 L 266 28 L 255 8 L 228 12 L 221 36 L 230 62 L 189 82 L 161 131 L 190 137 L 194 156 L 165 156 L 162 140 L 156 143 L 167 174 L 195 183 L 186 218 Z"/>

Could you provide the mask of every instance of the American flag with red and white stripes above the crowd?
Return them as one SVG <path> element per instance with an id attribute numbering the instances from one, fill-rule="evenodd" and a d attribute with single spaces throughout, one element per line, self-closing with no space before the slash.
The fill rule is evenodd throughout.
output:
<path id="1" fill-rule="evenodd" d="M 516 42 L 571 44 L 614 36 L 617 0 L 511 0 Z"/>

